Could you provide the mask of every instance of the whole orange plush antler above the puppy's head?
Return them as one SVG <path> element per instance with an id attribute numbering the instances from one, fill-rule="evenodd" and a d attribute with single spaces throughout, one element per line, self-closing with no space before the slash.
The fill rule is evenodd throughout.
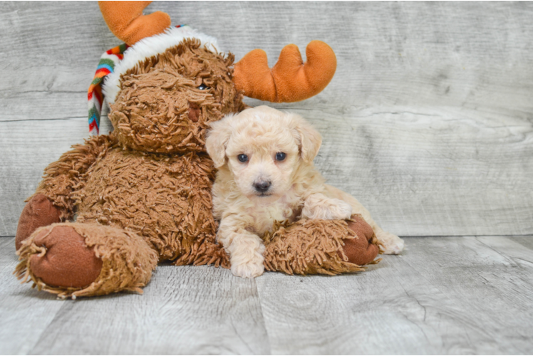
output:
<path id="1" fill-rule="evenodd" d="M 293 103 L 320 93 L 333 78 L 337 58 L 330 46 L 311 41 L 307 62 L 294 44 L 285 46 L 270 69 L 267 53 L 254 49 L 235 64 L 233 83 L 250 98 L 274 103 Z"/>

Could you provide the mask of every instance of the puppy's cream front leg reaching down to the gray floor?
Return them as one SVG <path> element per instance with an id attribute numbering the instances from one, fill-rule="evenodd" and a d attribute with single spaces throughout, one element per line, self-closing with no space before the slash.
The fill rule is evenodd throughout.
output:
<path id="1" fill-rule="evenodd" d="M 245 221 L 237 216 L 222 218 L 217 239 L 229 253 L 234 276 L 254 278 L 264 272 L 264 244 L 259 236 L 245 227 Z"/>

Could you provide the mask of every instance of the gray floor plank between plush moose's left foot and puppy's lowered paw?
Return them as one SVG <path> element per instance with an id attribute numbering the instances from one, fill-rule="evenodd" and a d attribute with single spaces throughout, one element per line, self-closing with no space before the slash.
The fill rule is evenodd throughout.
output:
<path id="1" fill-rule="evenodd" d="M 83 337 L 81 337 L 83 335 Z M 144 295 L 68 300 L 30 355 L 267 355 L 254 280 L 159 266 Z"/>

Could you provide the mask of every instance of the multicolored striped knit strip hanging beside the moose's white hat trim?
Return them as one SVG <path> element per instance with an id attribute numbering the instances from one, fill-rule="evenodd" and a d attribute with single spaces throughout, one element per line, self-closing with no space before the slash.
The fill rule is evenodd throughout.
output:
<path id="1" fill-rule="evenodd" d="M 109 73 L 113 73 L 115 66 L 124 58 L 124 51 L 130 46 L 123 43 L 120 46 L 111 48 L 103 53 L 98 62 L 96 73 L 93 81 L 90 83 L 87 93 L 89 108 L 89 132 L 90 135 L 98 135 L 100 132 L 100 113 L 102 112 L 103 95 L 102 84 L 103 78 Z"/>

